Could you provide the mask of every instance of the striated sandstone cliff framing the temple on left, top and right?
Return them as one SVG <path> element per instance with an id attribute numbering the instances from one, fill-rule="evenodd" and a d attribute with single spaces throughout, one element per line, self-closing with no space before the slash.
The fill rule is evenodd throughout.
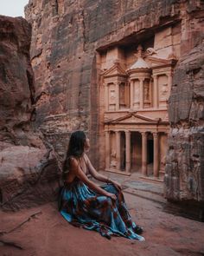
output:
<path id="1" fill-rule="evenodd" d="M 202 9 L 198 0 L 30 0 L 26 19 L 33 31 L 35 126 L 44 140 L 63 156 L 70 133 L 82 128 L 91 139 L 94 165 L 103 169 L 99 84 L 105 70 L 99 62 L 105 60 L 100 53 L 114 46 L 136 50 L 143 42 L 152 47 L 156 32 L 175 26 L 169 33 L 181 31 L 181 37 L 172 35 L 181 42 L 169 44 L 169 35 L 161 38 L 161 44 L 179 53 L 169 99 L 166 197 L 202 201 Z"/>

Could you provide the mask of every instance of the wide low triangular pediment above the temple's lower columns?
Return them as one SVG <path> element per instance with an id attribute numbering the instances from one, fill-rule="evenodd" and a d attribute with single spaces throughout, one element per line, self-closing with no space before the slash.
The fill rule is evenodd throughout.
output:
<path id="1" fill-rule="evenodd" d="M 136 113 L 131 113 L 128 115 L 124 115 L 123 117 L 119 117 L 117 119 L 114 119 L 112 121 L 105 121 L 106 123 L 121 123 L 121 124 L 127 124 L 127 123 L 145 123 L 145 124 L 152 124 L 157 123 L 158 120 L 151 119 L 150 117 L 146 117 L 143 115 L 137 115 Z"/>

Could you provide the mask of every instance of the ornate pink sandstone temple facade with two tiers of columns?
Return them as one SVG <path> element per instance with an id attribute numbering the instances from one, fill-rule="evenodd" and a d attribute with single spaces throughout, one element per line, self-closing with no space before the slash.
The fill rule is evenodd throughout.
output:
<path id="1" fill-rule="evenodd" d="M 112 65 L 109 56 L 115 56 Z M 100 82 L 105 170 L 163 179 L 175 56 L 171 51 L 163 58 L 155 49 L 137 45 L 132 58 L 114 48 L 100 62 L 108 67 Z"/>

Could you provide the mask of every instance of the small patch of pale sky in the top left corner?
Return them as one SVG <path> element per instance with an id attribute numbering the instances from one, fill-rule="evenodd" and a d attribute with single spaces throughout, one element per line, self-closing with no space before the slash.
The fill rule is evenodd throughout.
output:
<path id="1" fill-rule="evenodd" d="M 0 0 L 0 15 L 23 16 L 24 7 L 29 0 Z"/>

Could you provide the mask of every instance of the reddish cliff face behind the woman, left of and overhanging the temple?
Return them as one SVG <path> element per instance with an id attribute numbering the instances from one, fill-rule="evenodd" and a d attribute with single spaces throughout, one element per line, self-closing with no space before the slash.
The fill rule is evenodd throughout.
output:
<path id="1" fill-rule="evenodd" d="M 105 167 L 98 153 L 98 49 L 137 45 L 141 35 L 153 35 L 164 24 L 175 23 L 176 2 L 29 1 L 35 124 L 59 154 L 64 154 L 70 133 L 82 128 L 91 139 L 92 161 L 97 168 Z"/>

